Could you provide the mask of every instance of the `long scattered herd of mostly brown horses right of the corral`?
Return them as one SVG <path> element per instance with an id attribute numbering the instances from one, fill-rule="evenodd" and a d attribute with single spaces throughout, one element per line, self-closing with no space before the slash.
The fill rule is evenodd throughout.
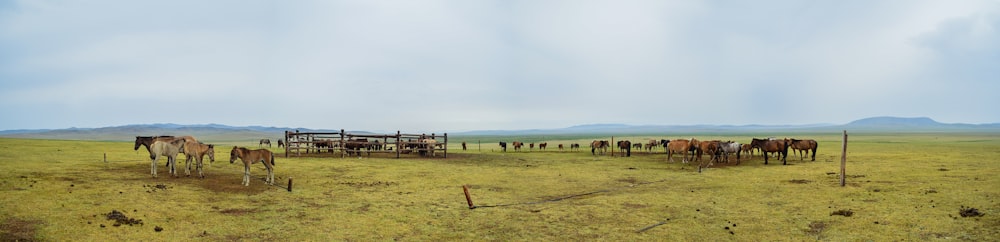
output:
<path id="1" fill-rule="evenodd" d="M 514 141 L 510 142 L 509 145 L 513 146 L 514 151 L 520 151 L 521 147 L 525 144 L 523 142 Z M 507 152 L 507 142 L 500 142 L 500 149 L 503 152 Z M 539 150 L 545 150 L 548 143 L 539 143 Z M 708 140 L 699 141 L 698 139 L 674 139 L 674 140 L 655 140 L 651 139 L 645 144 L 643 143 L 632 143 L 628 140 L 618 141 L 615 147 L 621 150 L 623 156 L 631 156 L 632 149 L 643 149 L 645 148 L 647 152 L 653 152 L 654 149 L 659 149 L 662 147 L 667 154 L 667 160 L 673 162 L 674 154 L 681 154 L 683 158 L 681 162 L 687 163 L 689 161 L 688 155 L 691 155 L 692 161 L 701 161 L 703 154 L 711 155 L 709 162 L 729 162 L 729 157 L 731 155 L 736 156 L 736 164 L 740 162 L 740 154 L 753 155 L 754 151 L 758 151 L 764 157 L 764 164 L 768 163 L 768 154 L 778 155 L 781 158 L 782 164 L 788 164 L 786 157 L 788 156 L 788 149 L 791 148 L 792 152 L 798 152 L 799 159 L 801 160 L 803 156 L 808 156 L 812 152 L 812 161 L 816 161 L 816 149 L 819 144 L 815 140 L 811 139 L 758 139 L 753 138 L 749 144 L 740 144 L 735 141 L 721 141 L 721 140 Z M 528 144 L 529 149 L 535 148 L 535 143 Z M 559 150 L 563 150 L 563 144 L 558 144 Z M 571 151 L 576 151 L 580 149 L 580 144 L 570 144 Z M 594 140 L 590 143 L 590 153 L 593 155 L 604 154 L 607 150 L 611 148 L 611 142 L 607 140 Z M 465 149 L 465 142 L 462 143 L 462 149 Z"/>

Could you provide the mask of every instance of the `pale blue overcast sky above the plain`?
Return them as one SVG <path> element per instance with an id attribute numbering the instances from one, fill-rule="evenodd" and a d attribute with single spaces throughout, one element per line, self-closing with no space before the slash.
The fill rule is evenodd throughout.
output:
<path id="1" fill-rule="evenodd" d="M 0 130 L 1000 122 L 1000 1 L 0 1 Z"/>

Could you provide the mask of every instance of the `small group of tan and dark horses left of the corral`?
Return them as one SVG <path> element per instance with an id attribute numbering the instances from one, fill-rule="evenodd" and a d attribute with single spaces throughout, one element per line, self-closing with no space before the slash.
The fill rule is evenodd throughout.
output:
<path id="1" fill-rule="evenodd" d="M 198 142 L 192 136 L 136 136 L 135 148 L 133 150 L 139 150 L 139 146 L 144 146 L 149 151 L 149 159 L 152 160 L 150 173 L 153 177 L 156 177 L 156 162 L 162 157 L 167 158 L 167 167 L 170 169 L 172 176 L 177 176 L 175 168 L 177 154 L 187 156 L 185 161 L 187 169 L 185 173 L 188 176 L 191 176 L 191 165 L 195 163 L 198 176 L 201 178 L 205 177 L 202 171 L 202 160 L 205 155 L 208 155 L 210 162 L 215 162 L 215 146 Z M 267 168 L 265 182 L 267 184 L 274 184 L 274 154 L 271 151 L 266 149 L 251 150 L 233 146 L 233 149 L 229 152 L 229 163 L 236 162 L 237 158 L 243 161 L 244 186 L 250 185 L 250 165 L 257 162 L 263 163 L 264 167 Z"/>

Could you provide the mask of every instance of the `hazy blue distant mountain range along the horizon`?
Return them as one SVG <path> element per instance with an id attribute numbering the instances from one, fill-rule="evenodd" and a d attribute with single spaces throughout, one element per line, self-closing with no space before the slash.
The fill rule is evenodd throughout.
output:
<path id="1" fill-rule="evenodd" d="M 201 140 L 250 141 L 262 138 L 277 139 L 286 130 L 301 132 L 339 132 L 339 130 L 316 130 L 307 128 L 281 128 L 264 126 L 235 127 L 222 124 L 135 124 L 104 128 L 69 128 L 38 130 L 5 130 L 0 137 L 68 139 L 68 140 L 133 140 L 135 136 L 152 135 L 194 135 Z M 528 130 L 479 130 L 452 133 L 456 136 L 514 136 L 514 135 L 570 135 L 570 134 L 725 134 L 725 133 L 795 133 L 795 132 L 835 132 L 840 130 L 861 132 L 1000 132 L 1000 123 L 992 124 L 946 124 L 926 117 L 873 117 L 856 120 L 843 125 L 626 125 L 626 124 L 586 124 L 560 129 Z M 370 133 L 348 131 L 350 133 Z"/>

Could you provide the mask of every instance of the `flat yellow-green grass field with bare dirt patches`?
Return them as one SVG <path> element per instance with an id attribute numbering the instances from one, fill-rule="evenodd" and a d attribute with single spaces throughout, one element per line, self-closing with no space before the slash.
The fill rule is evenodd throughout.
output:
<path id="1" fill-rule="evenodd" d="M 757 156 L 701 173 L 663 153 L 595 157 L 592 138 L 582 136 L 453 137 L 447 159 L 284 158 L 281 151 L 278 184 L 265 185 L 256 164 L 249 187 L 240 185 L 242 165 L 228 162 L 229 149 L 256 143 L 215 143 L 217 160 L 198 179 L 173 178 L 162 167 L 152 178 L 148 153 L 132 142 L 0 139 L 0 240 L 1000 238 L 1000 135 L 851 134 L 846 187 L 837 174 L 840 134 L 795 136 L 819 141 L 815 162 L 790 155 L 787 166 L 765 166 Z M 615 140 L 649 138 L 659 139 Z M 498 139 L 549 148 L 500 153 Z M 461 151 L 461 141 L 470 150 Z M 584 147 L 560 152 L 559 143 Z M 468 208 L 463 185 L 481 207 Z M 963 207 L 984 215 L 962 217 Z M 112 211 L 142 223 L 114 226 Z M 853 214 L 831 215 L 838 211 Z"/>

